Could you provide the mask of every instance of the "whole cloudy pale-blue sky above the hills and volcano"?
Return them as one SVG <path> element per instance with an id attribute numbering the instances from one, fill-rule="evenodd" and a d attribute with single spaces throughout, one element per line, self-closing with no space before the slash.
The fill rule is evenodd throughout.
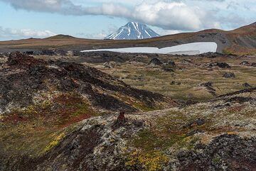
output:
<path id="1" fill-rule="evenodd" d="M 160 35 L 256 22 L 256 0 L 0 0 L 0 40 L 102 39 L 129 21 Z"/>

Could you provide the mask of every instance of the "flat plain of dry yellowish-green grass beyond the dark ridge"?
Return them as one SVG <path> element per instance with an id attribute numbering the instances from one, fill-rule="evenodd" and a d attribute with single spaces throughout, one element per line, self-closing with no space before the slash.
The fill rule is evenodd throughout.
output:
<path id="1" fill-rule="evenodd" d="M 213 82 L 216 95 L 245 89 L 242 86 L 245 82 L 252 87 L 256 86 L 256 68 L 240 65 L 244 60 L 255 62 L 255 57 L 171 57 L 169 59 L 168 57 L 162 55 L 160 58 L 165 61 L 174 60 L 179 68 L 175 72 L 164 72 L 161 67 L 149 67 L 142 62 L 125 62 L 114 68 L 106 68 L 102 64 L 92 66 L 122 79 L 132 87 L 157 92 L 178 100 L 205 101 L 213 98 L 214 95 L 206 87 L 199 86 L 202 82 Z M 184 59 L 190 59 L 193 63 L 183 63 Z M 231 68 L 209 68 L 210 62 L 227 62 Z M 223 78 L 225 72 L 234 72 L 235 78 Z"/>

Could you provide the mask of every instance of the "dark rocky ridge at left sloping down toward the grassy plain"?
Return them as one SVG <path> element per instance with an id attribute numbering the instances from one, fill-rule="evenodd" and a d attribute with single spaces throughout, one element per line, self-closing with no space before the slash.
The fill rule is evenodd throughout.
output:
<path id="1" fill-rule="evenodd" d="M 92 106 L 106 110 L 137 111 L 130 104 L 112 96 L 131 97 L 154 106 L 166 101 L 160 94 L 134 89 L 95 68 L 68 62 L 37 60 L 21 53 L 11 53 L 0 67 L 0 109 L 33 104 L 39 92 L 77 92 L 85 94 Z"/>

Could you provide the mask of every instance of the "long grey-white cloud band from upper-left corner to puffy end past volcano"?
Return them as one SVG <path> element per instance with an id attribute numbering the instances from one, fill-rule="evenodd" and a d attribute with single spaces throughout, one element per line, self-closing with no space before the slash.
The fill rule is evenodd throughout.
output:
<path id="1" fill-rule="evenodd" d="M 198 6 L 188 6 L 181 1 L 157 1 L 129 8 L 117 3 L 103 3 L 100 6 L 75 5 L 70 0 L 0 0 L 11 4 L 15 9 L 60 13 L 63 15 L 102 15 L 127 18 L 129 21 L 139 21 L 151 26 L 168 30 L 194 31 L 213 26 L 205 23 L 206 12 Z"/>

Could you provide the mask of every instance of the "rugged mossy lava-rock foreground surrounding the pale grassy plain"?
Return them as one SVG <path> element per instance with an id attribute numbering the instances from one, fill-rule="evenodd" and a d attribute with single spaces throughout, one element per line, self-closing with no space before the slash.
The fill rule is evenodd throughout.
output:
<path id="1" fill-rule="evenodd" d="M 163 87 L 161 81 L 168 80 L 177 91 L 178 86 L 186 90 L 184 85 L 191 84 L 211 94 L 201 98 L 201 92 L 195 93 L 188 99 L 183 98 L 186 91 L 170 96 L 170 90 L 135 89 L 139 85 L 131 87 L 85 65 L 81 55 L 3 55 L 0 170 L 255 170 L 256 88 L 249 79 L 255 78 L 253 58 L 242 62 L 243 58 L 214 55 L 200 58 L 206 62 L 201 65 L 190 57 L 168 62 L 165 57 L 149 60 L 143 55 L 114 56 L 121 64 L 101 63 L 108 57 L 94 55 L 101 61 L 90 63 L 124 82 L 146 85 L 146 79 L 156 74 L 154 82 Z M 127 66 L 130 70 L 124 70 Z M 150 75 L 132 79 L 132 66 Z M 184 72 L 196 76 L 188 79 Z M 209 75 L 201 72 L 218 79 L 209 82 Z M 225 72 L 235 72 L 235 78 L 223 78 Z M 238 86 L 233 82 L 240 75 L 245 77 Z M 240 90 L 224 91 L 228 87 Z M 192 101 L 194 97 L 200 100 Z"/>

